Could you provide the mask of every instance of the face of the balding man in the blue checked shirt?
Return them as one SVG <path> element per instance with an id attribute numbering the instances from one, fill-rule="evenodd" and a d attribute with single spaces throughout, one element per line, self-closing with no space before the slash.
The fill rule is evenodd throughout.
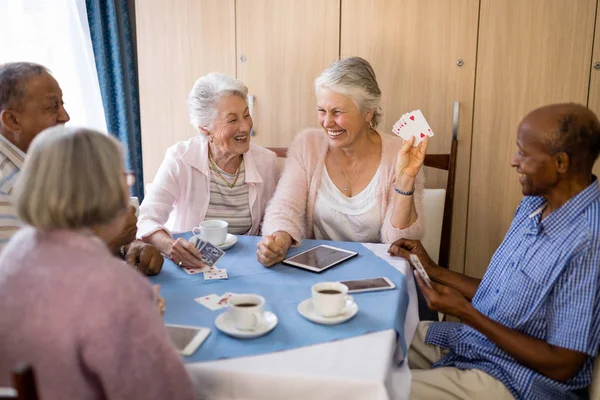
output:
<path id="1" fill-rule="evenodd" d="M 547 196 L 560 180 L 557 158 L 550 152 L 549 134 L 552 129 L 536 114 L 526 117 L 517 131 L 518 150 L 511 166 L 519 173 L 525 196 Z"/>

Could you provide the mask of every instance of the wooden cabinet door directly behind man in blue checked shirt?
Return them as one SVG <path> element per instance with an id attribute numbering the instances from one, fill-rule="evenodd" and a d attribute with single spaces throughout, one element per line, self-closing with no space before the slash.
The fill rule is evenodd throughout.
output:
<path id="1" fill-rule="evenodd" d="M 595 16 L 596 0 L 481 0 L 469 275 L 485 273 L 522 198 L 510 166 L 521 119 L 546 104 L 587 103 Z"/>

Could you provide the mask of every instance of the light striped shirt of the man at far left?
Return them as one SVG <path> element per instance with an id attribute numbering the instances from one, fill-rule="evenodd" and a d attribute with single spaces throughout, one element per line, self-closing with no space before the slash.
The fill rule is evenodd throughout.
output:
<path id="1" fill-rule="evenodd" d="M 0 135 L 0 251 L 21 227 L 12 192 L 24 160 L 25 153 Z"/>

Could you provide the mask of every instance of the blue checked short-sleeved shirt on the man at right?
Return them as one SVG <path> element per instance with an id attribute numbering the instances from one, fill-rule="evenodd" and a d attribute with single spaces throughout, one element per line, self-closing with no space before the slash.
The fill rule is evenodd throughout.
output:
<path id="1" fill-rule="evenodd" d="M 434 368 L 482 370 L 517 398 L 584 398 L 600 343 L 598 180 L 542 220 L 544 206 L 542 197 L 521 201 L 472 304 L 511 329 L 588 354 L 579 373 L 552 380 L 464 324 L 434 323 L 425 342 L 450 349 Z"/>

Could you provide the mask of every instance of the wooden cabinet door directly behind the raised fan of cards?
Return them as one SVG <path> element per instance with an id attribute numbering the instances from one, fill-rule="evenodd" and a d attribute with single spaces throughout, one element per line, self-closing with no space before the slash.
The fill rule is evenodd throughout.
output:
<path id="1" fill-rule="evenodd" d="M 464 265 L 478 9 L 478 0 L 342 0 L 341 56 L 373 65 L 382 92 L 381 132 L 421 109 L 435 132 L 428 153 L 448 153 L 453 103 L 460 102 L 450 258 L 458 271 Z M 444 172 L 427 170 L 426 176 L 427 187 L 445 187 Z"/>

